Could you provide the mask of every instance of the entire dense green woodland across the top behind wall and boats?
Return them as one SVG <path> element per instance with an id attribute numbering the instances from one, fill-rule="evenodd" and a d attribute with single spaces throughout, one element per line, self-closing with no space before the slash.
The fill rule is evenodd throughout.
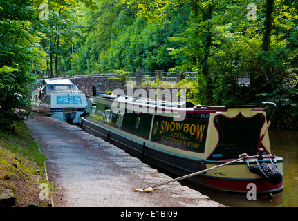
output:
<path id="1" fill-rule="evenodd" d="M 297 0 L 0 0 L 0 124 L 39 77 L 162 69 L 196 72 L 196 104 L 276 102 L 298 128 L 297 55 Z"/>

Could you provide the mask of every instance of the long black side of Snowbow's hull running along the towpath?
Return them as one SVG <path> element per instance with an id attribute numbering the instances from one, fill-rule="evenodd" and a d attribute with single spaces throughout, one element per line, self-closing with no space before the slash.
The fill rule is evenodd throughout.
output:
<path id="1" fill-rule="evenodd" d="M 178 155 L 170 155 L 164 151 L 150 148 L 145 142 L 136 142 L 136 140 L 119 133 L 115 133 L 114 131 L 110 131 L 108 128 L 94 124 L 84 118 L 82 119 L 81 126 L 84 131 L 97 137 L 101 137 L 103 140 L 111 142 L 111 144 L 122 148 L 134 157 L 138 157 L 140 160 L 147 162 L 152 166 L 156 166 L 157 169 L 165 170 L 172 175 L 182 176 L 206 169 L 205 164 L 202 164 L 201 160 L 189 159 Z M 205 184 L 204 175 L 196 175 L 194 177 L 190 177 L 188 180 L 203 186 Z"/>

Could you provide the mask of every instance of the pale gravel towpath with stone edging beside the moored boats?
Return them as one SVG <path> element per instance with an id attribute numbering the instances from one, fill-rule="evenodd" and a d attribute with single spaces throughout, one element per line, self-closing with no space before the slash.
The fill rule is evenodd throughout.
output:
<path id="1" fill-rule="evenodd" d="M 136 192 L 171 177 L 77 126 L 39 114 L 26 124 L 46 157 L 55 206 L 223 206 L 178 182 Z"/>

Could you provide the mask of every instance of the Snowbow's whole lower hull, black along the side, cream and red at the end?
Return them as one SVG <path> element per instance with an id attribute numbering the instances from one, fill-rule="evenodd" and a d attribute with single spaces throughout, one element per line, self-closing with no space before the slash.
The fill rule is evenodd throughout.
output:
<path id="1" fill-rule="evenodd" d="M 203 171 L 226 161 L 203 160 L 194 157 L 186 157 L 169 153 L 160 148 L 156 148 L 153 142 L 143 137 L 131 135 L 124 131 L 118 131 L 116 128 L 106 126 L 94 120 L 81 118 L 81 126 L 84 131 L 115 144 L 127 153 L 138 157 L 140 160 L 163 169 L 175 176 L 188 175 L 197 171 Z M 270 163 L 269 160 L 266 162 Z M 256 164 L 250 160 L 250 164 Z M 282 171 L 283 160 L 278 158 L 278 168 Z M 250 173 L 246 162 L 234 163 L 208 171 L 201 175 L 195 175 L 187 179 L 197 186 L 203 186 L 216 191 L 227 191 L 233 193 L 248 193 L 250 185 L 254 184 L 257 193 L 272 193 L 283 189 L 283 182 L 278 185 L 272 185 L 259 175 Z M 249 185 L 250 184 L 250 185 Z"/>

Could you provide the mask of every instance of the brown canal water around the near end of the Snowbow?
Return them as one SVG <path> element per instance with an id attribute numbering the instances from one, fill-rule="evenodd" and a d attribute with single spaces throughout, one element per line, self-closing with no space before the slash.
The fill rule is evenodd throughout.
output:
<path id="1" fill-rule="evenodd" d="M 257 195 L 248 200 L 246 195 L 231 195 L 197 189 L 212 200 L 226 206 L 298 207 L 298 131 L 271 127 L 269 131 L 271 151 L 283 157 L 283 191 L 270 195 Z"/>

